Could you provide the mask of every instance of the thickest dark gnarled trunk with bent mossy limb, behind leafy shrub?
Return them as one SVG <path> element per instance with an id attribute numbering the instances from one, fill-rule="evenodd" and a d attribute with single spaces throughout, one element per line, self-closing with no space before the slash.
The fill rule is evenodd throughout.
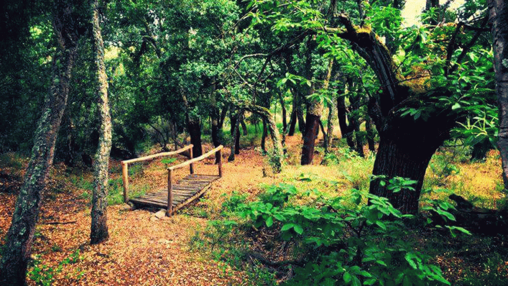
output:
<path id="1" fill-rule="evenodd" d="M 380 137 L 372 174 L 383 176 L 384 180 L 403 177 L 418 182 L 415 190 L 402 189 L 393 193 L 386 184 L 379 184 L 378 178 L 371 181 L 369 192 L 388 198 L 403 213 L 417 213 L 430 158 L 449 137 L 458 114 L 452 110 L 431 110 L 426 111 L 427 120 L 402 117 L 401 108 L 411 104 L 421 106 L 418 101 L 411 101 L 421 92 L 417 94 L 407 82 L 401 83 L 403 78 L 396 73 L 390 52 L 369 28 L 354 27 L 344 15 L 340 15 L 339 19 L 345 30 L 341 30 L 338 36 L 351 42 L 353 49 L 367 61 L 382 86 L 379 94 L 371 98 L 368 107 Z"/>

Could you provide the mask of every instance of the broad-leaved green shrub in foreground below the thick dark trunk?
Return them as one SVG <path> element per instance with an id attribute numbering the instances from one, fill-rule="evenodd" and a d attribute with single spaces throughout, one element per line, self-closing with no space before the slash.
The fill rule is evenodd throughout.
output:
<path id="1" fill-rule="evenodd" d="M 390 183 L 390 182 L 389 182 Z M 394 189 L 414 182 L 393 181 Z M 310 256 L 286 285 L 450 284 L 430 257 L 416 250 L 402 215 L 385 198 L 353 190 L 349 197 L 318 199 L 319 208 L 288 204 L 291 185 L 272 186 L 242 215 L 256 228 L 280 228 L 283 240 L 298 241 Z M 310 193 L 305 193 L 308 195 Z M 368 198 L 369 205 L 362 203 Z M 354 207 L 351 207 L 354 203 Z"/>

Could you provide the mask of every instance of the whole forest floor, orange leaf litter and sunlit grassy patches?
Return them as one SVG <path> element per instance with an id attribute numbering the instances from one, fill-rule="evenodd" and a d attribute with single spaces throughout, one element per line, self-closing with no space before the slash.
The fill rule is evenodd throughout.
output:
<path id="1" fill-rule="evenodd" d="M 299 152 L 301 137 L 287 137 L 286 142 L 288 154 Z M 232 215 L 228 207 L 234 205 L 234 200 L 257 200 L 267 185 L 278 183 L 294 184 L 302 191 L 319 188 L 332 196 L 347 196 L 354 186 L 366 191 L 373 157 L 341 152 L 343 147 L 334 148 L 338 161 L 329 166 L 290 163 L 283 172 L 273 174 L 267 171 L 270 166 L 266 156 L 255 146 L 245 146 L 234 162 L 224 164 L 224 177 L 214 182 L 201 200 L 172 217 L 156 218 L 158 209 L 131 210 L 121 201 L 110 205 L 110 238 L 98 245 L 90 245 L 88 237 L 91 190 L 86 186 L 91 185 L 91 173 L 87 169 L 66 171 L 62 164 L 56 165 L 36 230 L 29 285 L 38 285 L 36 281 L 52 285 L 275 285 L 278 280 L 289 278 L 284 277 L 288 273 L 275 276 L 273 270 L 268 271 L 273 266 L 264 266 L 257 257 L 251 260 L 247 257 L 249 253 L 263 253 L 276 262 L 287 260 L 284 256 L 290 253 L 283 254 L 280 244 L 267 246 L 276 235 L 275 230 L 256 235 L 245 228 L 221 225 L 230 219 L 246 223 Z M 504 198 L 499 190 L 497 152 L 489 152 L 483 163 L 469 163 L 465 153 L 455 152 L 447 153 L 446 157 L 436 155 L 428 170 L 427 183 L 440 182 L 443 188 L 449 188 L 448 193 L 439 194 L 441 198 L 455 192 L 480 207 L 496 208 L 495 202 Z M 320 158 L 317 159 L 319 162 Z M 196 169 L 216 172 L 213 163 L 210 158 L 197 164 Z M 450 169 L 454 170 L 452 174 L 443 176 Z M 3 178 L 9 175 L 19 179 L 22 168 L 2 166 L 1 170 Z M 176 176 L 187 172 L 180 170 Z M 268 175 L 264 176 L 264 172 Z M 111 161 L 110 176 L 112 191 L 121 196 L 118 161 Z M 147 190 L 164 186 L 166 180 L 165 164 L 159 159 L 140 165 L 131 184 L 133 189 Z M 19 184 L 8 180 L 2 183 L 4 190 L 6 184 Z M 15 192 L 0 193 L 0 234 L 7 232 L 15 198 Z M 421 247 L 434 248 L 432 263 L 440 266 L 453 285 L 469 285 L 471 281 L 473 285 L 502 285 L 508 281 L 502 237 L 460 234 L 454 238 L 435 228 L 415 228 L 418 232 L 410 239 L 420 241 Z"/>

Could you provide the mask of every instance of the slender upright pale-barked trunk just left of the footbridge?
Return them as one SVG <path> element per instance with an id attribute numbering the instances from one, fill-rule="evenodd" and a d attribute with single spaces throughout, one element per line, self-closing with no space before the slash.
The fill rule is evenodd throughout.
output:
<path id="1" fill-rule="evenodd" d="M 97 65 L 97 107 L 101 122 L 99 146 L 93 161 L 95 187 L 92 195 L 90 244 L 98 244 L 109 238 L 107 207 L 108 207 L 108 167 L 111 152 L 111 115 L 108 103 L 108 76 L 104 65 L 104 42 L 99 23 L 99 4 L 92 4 L 92 33 L 95 62 Z"/>

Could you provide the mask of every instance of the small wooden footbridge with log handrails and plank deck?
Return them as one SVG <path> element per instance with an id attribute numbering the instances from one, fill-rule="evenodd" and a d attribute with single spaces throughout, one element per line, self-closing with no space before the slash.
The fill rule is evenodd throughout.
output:
<path id="1" fill-rule="evenodd" d="M 211 186 L 211 183 L 222 177 L 222 149 L 220 145 L 217 148 L 208 151 L 207 153 L 193 158 L 192 155 L 193 145 L 185 146 L 181 149 L 172 152 L 164 152 L 153 154 L 150 156 L 135 158 L 132 160 L 122 161 L 122 180 L 123 180 L 123 201 L 125 203 L 132 203 L 134 206 L 151 206 L 166 208 L 166 214 L 171 216 L 177 210 L 181 209 L 185 205 L 193 202 L 197 198 L 201 197 L 206 190 Z M 190 159 L 180 163 L 178 165 L 167 168 L 168 169 L 168 187 L 165 189 L 153 190 L 144 195 L 129 198 L 129 164 L 153 160 L 156 157 L 170 156 L 179 154 L 187 151 L 190 153 Z M 218 165 L 218 175 L 199 175 L 194 174 L 194 163 L 201 161 L 211 155 L 215 154 L 215 158 Z M 173 183 L 173 172 L 176 169 L 189 166 L 190 174 L 184 178 Z"/>

